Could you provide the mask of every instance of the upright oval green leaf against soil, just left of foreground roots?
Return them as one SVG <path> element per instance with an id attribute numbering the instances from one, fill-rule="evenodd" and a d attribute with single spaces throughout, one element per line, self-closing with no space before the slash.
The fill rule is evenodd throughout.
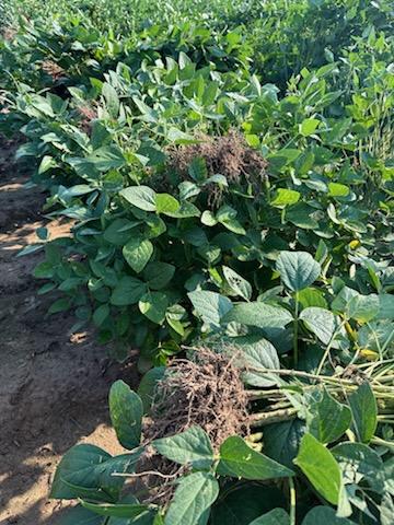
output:
<path id="1" fill-rule="evenodd" d="M 128 450 L 138 446 L 141 440 L 142 401 L 120 380 L 109 390 L 109 413 L 119 443 Z"/>

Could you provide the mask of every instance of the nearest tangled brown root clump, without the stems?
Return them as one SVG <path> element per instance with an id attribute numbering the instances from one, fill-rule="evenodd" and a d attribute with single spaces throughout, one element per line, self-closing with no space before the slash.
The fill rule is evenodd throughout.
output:
<path id="1" fill-rule="evenodd" d="M 164 377 L 158 382 L 151 415 L 144 421 L 146 444 L 193 425 L 206 431 L 215 452 L 230 435 L 247 435 L 247 396 L 235 359 L 236 355 L 198 348 L 192 360 L 175 359 L 170 363 Z M 174 494 L 175 481 L 188 467 L 157 455 L 148 446 L 139 476 L 147 468 L 147 476 L 142 476 L 149 491 L 146 502 L 166 505 Z"/>

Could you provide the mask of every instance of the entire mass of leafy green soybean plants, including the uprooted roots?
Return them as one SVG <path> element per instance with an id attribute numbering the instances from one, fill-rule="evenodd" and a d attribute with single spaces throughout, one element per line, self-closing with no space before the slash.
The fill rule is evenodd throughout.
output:
<path id="1" fill-rule="evenodd" d="M 20 255 L 142 376 L 60 523 L 390 525 L 392 2 L 137 3 L 0 16 L 0 131 L 71 228 Z"/>

